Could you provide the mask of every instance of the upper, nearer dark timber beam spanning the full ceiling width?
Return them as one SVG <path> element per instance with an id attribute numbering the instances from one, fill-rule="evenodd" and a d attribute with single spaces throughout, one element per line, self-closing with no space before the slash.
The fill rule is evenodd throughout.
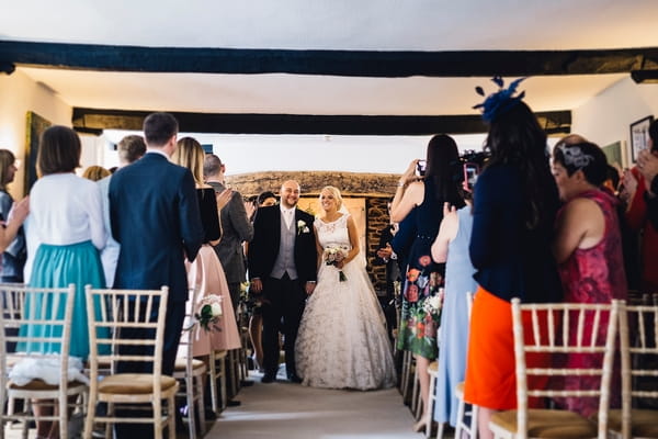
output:
<path id="1" fill-rule="evenodd" d="M 599 50 L 284 50 L 0 41 L 0 65 L 354 77 L 599 75 L 658 68 L 658 47 Z M 7 69 L 4 69 L 7 71 Z"/>

